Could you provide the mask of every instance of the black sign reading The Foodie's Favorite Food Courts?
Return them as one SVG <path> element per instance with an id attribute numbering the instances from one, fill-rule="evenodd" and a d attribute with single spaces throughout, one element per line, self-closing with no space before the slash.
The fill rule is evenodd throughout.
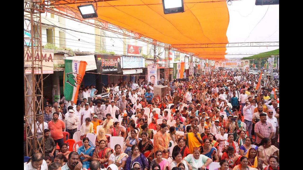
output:
<path id="1" fill-rule="evenodd" d="M 119 73 L 121 72 L 120 56 L 95 55 L 98 73 Z"/>

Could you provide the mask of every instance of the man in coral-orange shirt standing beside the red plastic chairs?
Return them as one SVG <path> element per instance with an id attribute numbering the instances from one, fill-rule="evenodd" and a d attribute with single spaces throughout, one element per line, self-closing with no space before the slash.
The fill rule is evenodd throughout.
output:
<path id="1" fill-rule="evenodd" d="M 65 129 L 65 124 L 62 120 L 58 119 L 59 113 L 53 113 L 53 119 L 48 122 L 48 129 L 51 131 L 51 137 L 54 139 L 55 144 L 61 146 L 63 142 L 63 130 Z M 54 152 L 54 157 L 56 152 Z"/>

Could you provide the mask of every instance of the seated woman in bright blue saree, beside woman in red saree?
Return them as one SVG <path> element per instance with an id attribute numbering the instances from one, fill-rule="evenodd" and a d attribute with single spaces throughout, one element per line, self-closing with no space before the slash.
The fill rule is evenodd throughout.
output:
<path id="1" fill-rule="evenodd" d="M 89 164 L 91 163 L 94 151 L 94 144 L 88 138 L 83 138 L 82 146 L 80 146 L 77 151 L 83 168 L 89 168 Z"/>

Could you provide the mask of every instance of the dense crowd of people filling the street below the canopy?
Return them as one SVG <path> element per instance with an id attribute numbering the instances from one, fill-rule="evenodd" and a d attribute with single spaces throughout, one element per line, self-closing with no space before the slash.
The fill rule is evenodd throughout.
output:
<path id="1" fill-rule="evenodd" d="M 165 96 L 143 81 L 112 84 L 106 100 L 98 95 L 89 103 L 80 89 L 78 105 L 54 102 L 36 116 L 29 129 L 43 131 L 45 155 L 38 149 L 24 169 L 204 170 L 212 162 L 218 170 L 279 169 L 279 81 L 261 78 L 256 89 L 258 76 L 238 68 L 209 71 L 171 81 Z M 77 131 L 82 146 L 70 152 L 63 134 L 72 139 Z M 110 148 L 111 136 L 123 137 L 124 145 Z"/>

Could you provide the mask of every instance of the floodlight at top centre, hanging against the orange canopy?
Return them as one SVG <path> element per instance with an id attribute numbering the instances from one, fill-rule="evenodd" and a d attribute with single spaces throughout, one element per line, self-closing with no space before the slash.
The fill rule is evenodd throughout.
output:
<path id="1" fill-rule="evenodd" d="M 164 14 L 184 12 L 183 0 L 162 0 Z"/>

